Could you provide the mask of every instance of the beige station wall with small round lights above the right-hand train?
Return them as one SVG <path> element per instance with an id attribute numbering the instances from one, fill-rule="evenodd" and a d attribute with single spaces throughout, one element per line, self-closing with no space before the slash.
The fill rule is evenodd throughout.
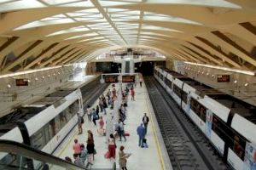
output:
<path id="1" fill-rule="evenodd" d="M 198 82 L 202 82 L 226 94 L 242 99 L 251 105 L 256 105 L 255 76 L 187 64 L 179 67 L 178 72 L 184 72 L 184 75 Z M 230 75 L 230 82 L 218 82 L 218 76 L 222 75 Z"/>

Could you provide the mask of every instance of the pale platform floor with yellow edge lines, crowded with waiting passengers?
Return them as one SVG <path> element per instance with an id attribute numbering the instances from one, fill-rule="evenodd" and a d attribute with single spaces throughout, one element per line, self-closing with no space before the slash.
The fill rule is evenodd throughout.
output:
<path id="1" fill-rule="evenodd" d="M 111 89 L 110 86 L 109 88 Z M 107 93 L 107 90 L 104 92 L 104 94 Z M 91 106 L 91 108 L 96 108 L 97 104 L 98 100 L 94 105 Z M 69 156 L 73 159 L 73 140 L 78 139 L 79 143 L 84 144 L 84 146 L 86 147 L 87 131 L 91 130 L 94 134 L 95 149 L 97 152 L 91 168 L 111 168 L 113 167 L 113 161 L 116 161 L 118 169 L 119 147 L 121 145 L 124 145 L 125 153 L 131 153 L 131 156 L 127 159 L 127 169 L 135 170 L 138 169 L 138 167 L 141 170 L 172 169 L 170 167 L 171 163 L 166 163 L 166 160 L 164 160 L 164 157 L 166 159 L 166 151 L 165 149 L 163 149 L 164 144 L 162 142 L 159 132 L 157 131 L 158 125 L 157 122 L 155 124 L 154 111 L 152 109 L 150 100 L 148 99 L 148 92 L 147 88 L 145 88 L 144 83 L 142 88 L 140 88 L 139 84 L 137 84 L 137 88 L 135 88 L 135 101 L 131 101 L 131 95 L 129 94 L 128 107 L 126 108 L 126 110 L 127 111 L 124 128 L 126 133 L 130 133 L 130 136 L 126 137 L 126 141 L 124 139 L 122 141 L 119 141 L 119 138 L 116 139 L 117 149 L 115 160 L 104 158 L 104 154 L 108 150 L 108 144 L 106 144 L 106 136 L 101 136 L 97 133 L 97 128 L 99 128 L 98 123 L 96 127 L 93 122 L 88 121 L 86 115 L 84 116 L 83 133 L 78 134 L 78 127 L 74 128 L 73 132 L 67 137 L 66 142 L 64 142 L 61 147 L 55 151 L 55 156 L 59 156 L 63 159 L 65 158 L 65 156 Z M 111 111 L 113 110 L 110 110 L 108 107 L 107 114 Z M 148 148 L 141 148 L 138 146 L 137 127 L 142 122 L 144 113 L 147 113 L 149 117 L 148 133 L 146 135 Z M 107 117 L 102 112 L 100 112 L 99 115 L 103 116 L 103 119 L 105 121 L 104 128 L 106 128 Z M 167 160 L 169 159 L 167 158 Z M 169 165 L 166 165 L 168 163 Z"/>

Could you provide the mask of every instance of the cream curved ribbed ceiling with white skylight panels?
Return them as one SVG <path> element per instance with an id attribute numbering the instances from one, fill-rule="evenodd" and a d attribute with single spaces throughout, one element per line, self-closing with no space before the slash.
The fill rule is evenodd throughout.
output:
<path id="1" fill-rule="evenodd" d="M 1 74 L 153 48 L 255 71 L 255 0 L 0 0 Z"/>

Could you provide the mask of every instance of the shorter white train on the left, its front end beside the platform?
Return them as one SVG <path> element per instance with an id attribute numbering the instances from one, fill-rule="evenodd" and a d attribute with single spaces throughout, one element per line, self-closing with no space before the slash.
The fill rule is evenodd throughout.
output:
<path id="1" fill-rule="evenodd" d="M 54 154 L 55 150 L 84 115 L 79 88 L 55 91 L 30 105 L 20 106 L 0 118 L 0 139 L 29 144 Z M 0 153 L 0 165 L 19 165 L 12 154 Z"/>

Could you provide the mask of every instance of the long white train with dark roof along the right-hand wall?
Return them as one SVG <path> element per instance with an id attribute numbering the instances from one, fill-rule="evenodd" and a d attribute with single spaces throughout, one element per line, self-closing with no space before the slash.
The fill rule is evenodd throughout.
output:
<path id="1" fill-rule="evenodd" d="M 155 66 L 154 77 L 230 167 L 256 167 L 254 105 L 168 69 Z"/>

